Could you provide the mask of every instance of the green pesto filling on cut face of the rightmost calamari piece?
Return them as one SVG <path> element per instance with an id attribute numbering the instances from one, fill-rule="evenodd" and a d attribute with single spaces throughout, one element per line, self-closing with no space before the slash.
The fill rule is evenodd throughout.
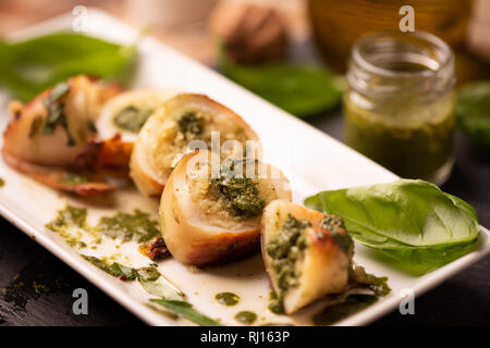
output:
<path id="1" fill-rule="evenodd" d="M 272 259 L 272 269 L 278 274 L 280 297 L 290 287 L 297 286 L 295 264 L 306 248 L 303 231 L 310 225 L 309 221 L 299 221 L 289 214 L 279 233 L 267 245 L 267 254 Z"/>

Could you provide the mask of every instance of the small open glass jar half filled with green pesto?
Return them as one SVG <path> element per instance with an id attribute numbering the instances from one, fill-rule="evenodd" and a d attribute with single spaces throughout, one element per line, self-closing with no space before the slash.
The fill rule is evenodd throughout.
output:
<path id="1" fill-rule="evenodd" d="M 402 177 L 442 184 L 454 163 L 454 57 L 436 36 L 379 32 L 352 49 L 345 142 Z"/>

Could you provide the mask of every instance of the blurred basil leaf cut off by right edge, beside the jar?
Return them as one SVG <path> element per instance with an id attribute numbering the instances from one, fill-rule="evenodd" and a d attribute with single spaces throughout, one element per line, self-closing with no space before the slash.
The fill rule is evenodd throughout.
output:
<path id="1" fill-rule="evenodd" d="M 477 144 L 490 149 L 490 82 L 473 83 L 460 89 L 456 120 Z"/>

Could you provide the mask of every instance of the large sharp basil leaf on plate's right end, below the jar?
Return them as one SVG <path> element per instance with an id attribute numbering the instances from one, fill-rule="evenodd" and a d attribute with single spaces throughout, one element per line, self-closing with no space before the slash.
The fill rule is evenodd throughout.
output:
<path id="1" fill-rule="evenodd" d="M 473 207 L 424 181 L 322 191 L 305 206 L 341 216 L 354 239 L 419 272 L 469 252 L 479 234 Z"/>

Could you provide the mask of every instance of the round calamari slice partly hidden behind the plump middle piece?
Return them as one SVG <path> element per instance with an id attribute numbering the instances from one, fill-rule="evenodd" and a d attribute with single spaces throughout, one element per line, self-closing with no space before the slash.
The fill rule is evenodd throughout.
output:
<path id="1" fill-rule="evenodd" d="M 259 147 L 250 126 L 215 100 L 203 95 L 168 100 L 148 119 L 136 140 L 131 158 L 136 187 L 146 196 L 160 197 L 177 162 L 196 148 L 211 149 L 213 135 L 223 157 L 245 151 L 247 140 L 256 140 L 255 149 Z"/>

